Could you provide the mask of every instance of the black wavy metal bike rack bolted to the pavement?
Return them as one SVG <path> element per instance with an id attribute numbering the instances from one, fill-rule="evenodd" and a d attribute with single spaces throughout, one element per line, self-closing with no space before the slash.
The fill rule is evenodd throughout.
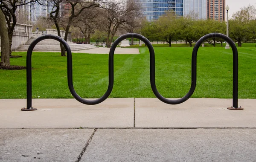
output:
<path id="1" fill-rule="evenodd" d="M 114 84 L 114 51 L 116 49 L 116 46 L 124 39 L 126 38 L 137 38 L 142 40 L 146 46 L 149 49 L 150 53 L 150 84 L 151 84 L 151 89 L 156 95 L 158 99 L 163 101 L 166 104 L 180 104 L 188 100 L 191 95 L 195 91 L 196 87 L 196 64 L 197 64 L 197 53 L 198 49 L 205 40 L 209 38 L 222 38 L 227 41 L 227 43 L 230 44 L 232 50 L 233 50 L 233 106 L 229 107 L 228 109 L 231 110 L 242 110 L 243 108 L 238 107 L 238 51 L 236 48 L 235 43 L 228 38 L 226 35 L 220 34 L 220 33 L 211 33 L 208 35 L 203 36 L 198 40 L 198 42 L 195 44 L 195 47 L 192 52 L 192 75 L 191 75 L 191 87 L 189 92 L 182 98 L 176 99 L 176 100 L 171 100 L 163 97 L 157 90 L 156 84 L 155 84 L 155 55 L 154 55 L 154 48 L 151 45 L 150 41 L 143 37 L 142 35 L 135 34 L 135 33 L 128 33 L 125 35 L 120 36 L 119 38 L 114 41 L 114 43 L 111 46 L 110 52 L 109 52 L 109 58 L 108 58 L 108 77 L 109 77 L 109 82 L 108 82 L 108 90 L 104 95 L 102 95 L 101 98 L 95 99 L 95 100 L 87 100 L 84 98 L 81 98 L 75 91 L 74 86 L 73 86 L 73 70 L 72 70 L 72 53 L 70 46 L 68 43 L 55 35 L 44 35 L 41 36 L 37 39 L 35 39 L 29 46 L 28 52 L 27 52 L 27 58 L 26 58 L 26 77 L 27 77 L 27 107 L 21 109 L 23 111 L 32 111 L 32 110 L 37 110 L 36 108 L 32 107 L 32 71 L 31 71 L 31 56 L 32 56 L 32 51 L 37 43 L 39 43 L 42 40 L 45 39 L 54 39 L 62 43 L 67 51 L 67 81 L 68 81 L 68 87 L 70 89 L 70 93 L 76 98 L 77 101 L 83 103 L 83 104 L 88 104 L 88 105 L 94 105 L 94 104 L 99 104 L 105 99 L 108 98 L 108 96 L 111 94 L 111 91 L 113 89 L 113 84 Z"/>

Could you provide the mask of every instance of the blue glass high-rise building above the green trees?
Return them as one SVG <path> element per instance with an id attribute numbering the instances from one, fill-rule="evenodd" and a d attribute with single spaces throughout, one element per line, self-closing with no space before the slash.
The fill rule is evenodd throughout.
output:
<path id="1" fill-rule="evenodd" d="M 183 0 L 140 0 L 140 3 L 148 21 L 157 20 L 167 12 L 183 16 Z"/>

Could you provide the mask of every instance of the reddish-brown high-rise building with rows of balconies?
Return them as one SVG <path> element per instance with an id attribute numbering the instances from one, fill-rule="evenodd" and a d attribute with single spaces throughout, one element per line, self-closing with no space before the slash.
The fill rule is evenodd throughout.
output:
<path id="1" fill-rule="evenodd" d="M 225 0 L 207 0 L 207 19 L 225 21 Z"/>

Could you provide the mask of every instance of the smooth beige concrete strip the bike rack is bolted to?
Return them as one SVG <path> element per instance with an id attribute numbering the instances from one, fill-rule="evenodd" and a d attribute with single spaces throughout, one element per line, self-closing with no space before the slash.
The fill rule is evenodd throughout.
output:
<path id="1" fill-rule="evenodd" d="M 169 105 L 157 98 L 108 98 L 98 105 L 75 99 L 0 100 L 0 128 L 256 128 L 256 99 L 239 99 L 244 110 L 227 110 L 232 99 L 190 98 Z"/>

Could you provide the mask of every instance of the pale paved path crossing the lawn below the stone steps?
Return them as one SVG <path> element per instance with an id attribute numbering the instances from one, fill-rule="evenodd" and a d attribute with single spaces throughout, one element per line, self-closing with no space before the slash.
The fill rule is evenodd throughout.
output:
<path id="1" fill-rule="evenodd" d="M 94 48 L 80 51 L 72 51 L 72 53 L 91 53 L 91 54 L 109 54 L 110 48 Z M 26 52 L 26 51 L 23 51 Z M 35 52 L 61 52 L 61 51 L 35 51 Z M 140 54 L 138 48 L 116 48 L 114 54 Z"/>

